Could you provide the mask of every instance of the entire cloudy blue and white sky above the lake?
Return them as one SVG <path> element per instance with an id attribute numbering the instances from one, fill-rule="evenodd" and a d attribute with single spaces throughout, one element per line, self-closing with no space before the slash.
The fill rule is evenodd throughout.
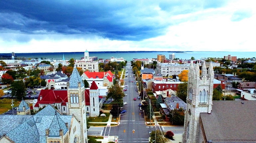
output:
<path id="1" fill-rule="evenodd" d="M 256 51 L 254 0 L 1 0 L 1 53 Z"/>

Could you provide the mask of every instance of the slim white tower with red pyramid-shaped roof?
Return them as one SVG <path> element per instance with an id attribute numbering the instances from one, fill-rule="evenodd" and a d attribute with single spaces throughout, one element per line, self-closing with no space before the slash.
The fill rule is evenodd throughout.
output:
<path id="1" fill-rule="evenodd" d="M 90 116 L 98 117 L 99 116 L 99 91 L 95 81 L 92 81 L 89 92 L 90 92 Z"/>

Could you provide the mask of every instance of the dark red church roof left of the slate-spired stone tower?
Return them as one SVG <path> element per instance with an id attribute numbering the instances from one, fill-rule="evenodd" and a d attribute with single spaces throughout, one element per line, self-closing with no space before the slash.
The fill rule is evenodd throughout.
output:
<path id="1" fill-rule="evenodd" d="M 42 96 L 42 100 L 40 97 Z M 67 90 L 52 90 L 52 89 L 43 89 L 39 93 L 37 103 L 35 107 L 39 107 L 39 104 L 54 104 L 62 103 L 66 105 L 67 102 Z"/>

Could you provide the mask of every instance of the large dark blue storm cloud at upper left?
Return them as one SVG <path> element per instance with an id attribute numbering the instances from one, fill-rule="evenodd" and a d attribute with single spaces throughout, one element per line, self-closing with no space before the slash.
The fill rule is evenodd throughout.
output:
<path id="1" fill-rule="evenodd" d="M 111 2 L 3 0 L 0 28 L 27 34 L 94 33 L 109 39 L 139 41 L 163 34 L 169 25 L 147 20 L 157 15 L 153 9 L 143 10 L 133 2 Z"/>

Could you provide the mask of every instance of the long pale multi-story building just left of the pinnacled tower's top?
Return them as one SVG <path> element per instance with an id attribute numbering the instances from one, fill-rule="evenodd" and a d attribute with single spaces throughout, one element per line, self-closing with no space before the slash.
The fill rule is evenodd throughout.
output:
<path id="1" fill-rule="evenodd" d="M 163 76 L 179 75 L 183 70 L 189 70 L 189 64 L 157 63 L 156 71 Z"/>

